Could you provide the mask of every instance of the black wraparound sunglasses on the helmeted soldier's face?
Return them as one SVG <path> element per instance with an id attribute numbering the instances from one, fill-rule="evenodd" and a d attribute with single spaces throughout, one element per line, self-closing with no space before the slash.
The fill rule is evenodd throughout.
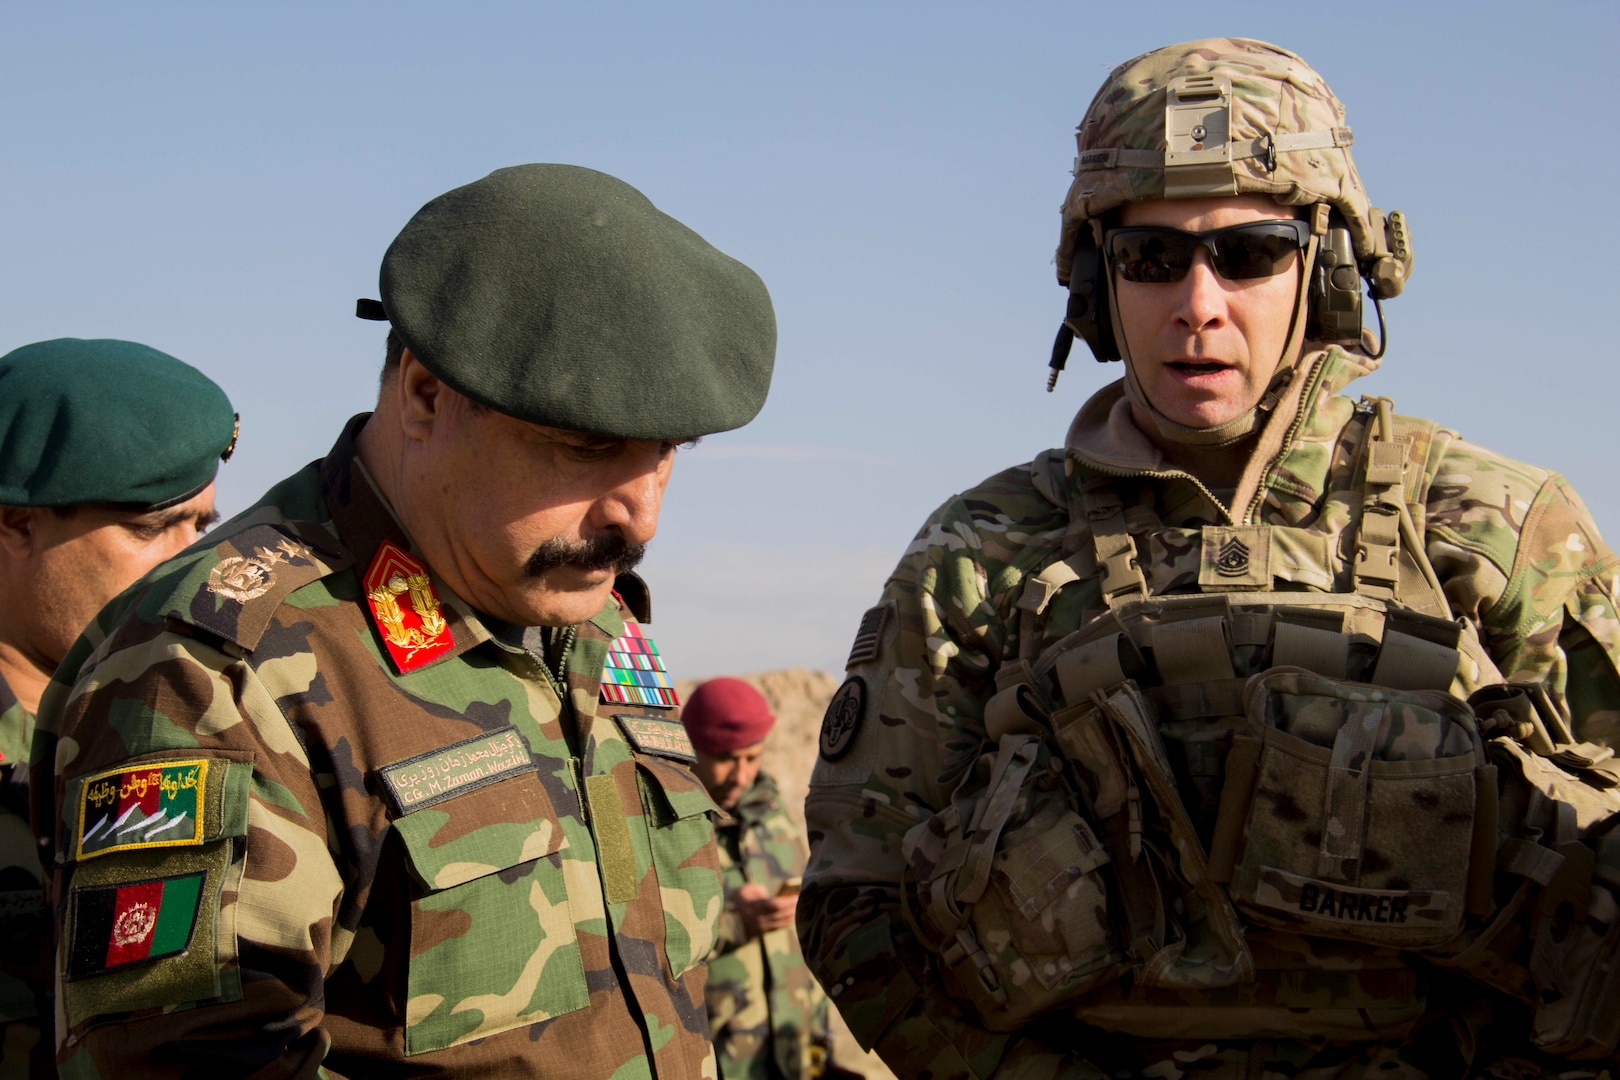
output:
<path id="1" fill-rule="evenodd" d="M 1165 285 L 1192 269 L 1199 248 L 1210 253 L 1215 272 L 1231 282 L 1275 277 L 1293 254 L 1311 243 L 1311 227 L 1296 219 L 1247 222 L 1207 233 L 1187 233 L 1163 225 L 1115 228 L 1106 236 L 1108 259 L 1128 282 Z"/>

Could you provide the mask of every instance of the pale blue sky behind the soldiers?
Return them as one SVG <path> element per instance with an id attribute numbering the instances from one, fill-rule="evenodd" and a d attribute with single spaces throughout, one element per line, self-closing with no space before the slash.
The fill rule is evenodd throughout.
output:
<path id="1" fill-rule="evenodd" d="M 240 510 L 374 398 L 353 301 L 418 206 L 611 172 L 753 266 L 781 327 L 761 416 L 677 465 L 653 631 L 677 675 L 836 670 L 928 510 L 1118 376 L 1077 350 L 1042 390 L 1072 130 L 1115 63 L 1210 34 L 1322 71 L 1411 220 L 1366 392 L 1565 473 L 1614 542 L 1614 3 L 8 5 L 0 351 L 204 369 L 243 415 Z"/>

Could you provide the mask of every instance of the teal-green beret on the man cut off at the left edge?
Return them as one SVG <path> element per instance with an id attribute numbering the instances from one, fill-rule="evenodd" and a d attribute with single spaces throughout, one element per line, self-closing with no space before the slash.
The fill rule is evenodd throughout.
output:
<path id="1" fill-rule="evenodd" d="M 0 505 L 183 502 L 235 431 L 224 390 L 146 345 L 60 337 L 0 356 Z"/>

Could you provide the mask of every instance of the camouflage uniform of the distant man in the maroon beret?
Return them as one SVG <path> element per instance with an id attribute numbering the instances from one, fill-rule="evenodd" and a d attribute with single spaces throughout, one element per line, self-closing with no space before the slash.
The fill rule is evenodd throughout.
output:
<path id="1" fill-rule="evenodd" d="M 776 780 L 760 772 L 718 839 L 727 904 L 705 999 L 721 1080 L 808 1080 L 810 1048 L 826 1038 L 826 997 L 794 931 L 784 926 L 750 939 L 731 902 L 750 882 L 776 895 L 804 866 L 804 839 L 782 810 Z"/>

